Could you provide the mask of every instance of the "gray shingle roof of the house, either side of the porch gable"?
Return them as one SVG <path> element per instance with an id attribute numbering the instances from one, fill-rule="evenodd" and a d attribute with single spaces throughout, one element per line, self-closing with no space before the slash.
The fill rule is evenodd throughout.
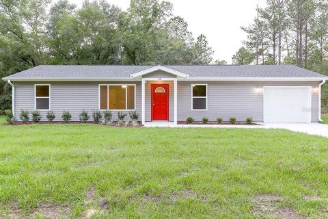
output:
<path id="1" fill-rule="evenodd" d="M 8 79 L 127 79 L 154 66 L 37 66 L 5 77 Z M 323 78 L 325 75 L 292 65 L 282 66 L 165 66 L 195 77 L 303 77 Z"/>

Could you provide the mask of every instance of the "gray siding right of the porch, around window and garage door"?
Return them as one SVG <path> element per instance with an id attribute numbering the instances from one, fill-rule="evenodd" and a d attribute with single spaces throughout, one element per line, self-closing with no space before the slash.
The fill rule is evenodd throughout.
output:
<path id="1" fill-rule="evenodd" d="M 228 120 L 235 116 L 244 121 L 253 117 L 254 121 L 263 121 L 263 93 L 256 92 L 256 88 L 263 86 L 312 86 L 319 82 L 288 82 L 288 81 L 254 81 L 254 82 L 222 82 L 202 81 L 208 84 L 208 110 L 191 110 L 191 84 L 195 81 L 178 81 L 178 120 L 184 121 L 192 116 L 201 121 L 206 116 L 210 121 L 218 117 Z M 318 94 L 312 93 L 312 123 L 318 123 Z"/>

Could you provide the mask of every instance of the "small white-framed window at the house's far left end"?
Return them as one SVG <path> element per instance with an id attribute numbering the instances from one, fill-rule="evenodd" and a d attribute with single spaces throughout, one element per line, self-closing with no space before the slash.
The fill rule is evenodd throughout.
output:
<path id="1" fill-rule="evenodd" d="M 36 84 L 35 105 L 36 110 L 50 110 L 50 84 Z"/>

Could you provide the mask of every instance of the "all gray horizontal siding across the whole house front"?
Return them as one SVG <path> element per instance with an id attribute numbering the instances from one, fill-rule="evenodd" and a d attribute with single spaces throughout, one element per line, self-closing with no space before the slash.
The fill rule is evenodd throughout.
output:
<path id="1" fill-rule="evenodd" d="M 149 75 L 149 74 L 148 74 Z M 49 82 L 37 82 L 49 83 Z M 55 112 L 56 121 L 61 120 L 61 113 L 69 110 L 72 120 L 78 121 L 82 110 L 98 110 L 98 85 L 99 84 L 136 84 L 136 110 L 141 115 L 141 81 L 137 82 L 51 82 L 51 110 Z M 174 120 L 174 83 L 173 81 L 147 81 L 146 83 L 146 121 L 151 120 L 151 83 L 169 83 L 169 120 Z M 208 84 L 208 110 L 191 110 L 191 84 L 194 81 L 178 81 L 178 120 L 184 121 L 188 116 L 195 120 L 202 120 L 203 116 L 210 121 L 217 117 L 228 120 L 236 116 L 237 120 L 245 120 L 248 116 L 254 121 L 263 120 L 263 94 L 256 92 L 256 88 L 263 86 L 318 86 L 318 82 L 220 82 L 202 81 Z M 34 110 L 34 83 L 15 83 L 15 115 L 19 117 L 20 110 Z M 46 112 L 42 112 L 42 120 L 46 120 Z M 113 112 L 116 120 L 117 112 Z M 141 119 L 141 118 L 140 118 Z M 91 120 L 91 119 L 90 119 Z M 318 123 L 318 94 L 312 93 L 312 123 Z"/>

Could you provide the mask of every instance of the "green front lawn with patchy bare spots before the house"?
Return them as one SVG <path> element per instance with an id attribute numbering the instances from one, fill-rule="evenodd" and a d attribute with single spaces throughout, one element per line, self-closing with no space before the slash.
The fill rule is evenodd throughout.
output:
<path id="1" fill-rule="evenodd" d="M 0 125 L 0 218 L 326 218 L 327 142 L 277 129 Z"/>

